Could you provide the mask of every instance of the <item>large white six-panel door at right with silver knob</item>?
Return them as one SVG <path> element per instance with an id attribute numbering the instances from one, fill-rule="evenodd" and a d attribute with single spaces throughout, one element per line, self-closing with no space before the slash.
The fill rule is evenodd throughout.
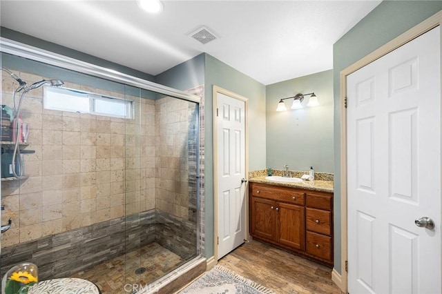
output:
<path id="1" fill-rule="evenodd" d="M 441 293 L 440 35 L 347 77 L 350 294 Z"/>

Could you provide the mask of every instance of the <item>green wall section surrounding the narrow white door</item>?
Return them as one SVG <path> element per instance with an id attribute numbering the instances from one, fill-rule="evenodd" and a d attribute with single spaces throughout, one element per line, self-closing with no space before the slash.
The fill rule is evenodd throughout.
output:
<path id="1" fill-rule="evenodd" d="M 242 74 L 226 63 L 206 54 L 204 73 L 204 137 L 205 137 L 205 210 L 204 234 L 206 257 L 213 256 L 213 86 L 219 86 L 249 99 L 249 170 L 265 167 L 266 119 L 265 85 Z"/>

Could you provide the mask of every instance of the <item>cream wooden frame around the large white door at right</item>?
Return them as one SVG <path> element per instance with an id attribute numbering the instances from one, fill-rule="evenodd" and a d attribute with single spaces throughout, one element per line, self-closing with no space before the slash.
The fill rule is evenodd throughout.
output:
<path id="1" fill-rule="evenodd" d="M 417 26 L 414 26 L 410 30 L 407 30 L 402 35 L 399 35 L 392 41 L 386 43 L 380 48 L 374 50 L 369 55 L 363 57 L 362 59 L 356 61 L 351 66 L 345 68 L 340 72 L 340 230 L 341 230 L 341 260 L 340 268 L 341 273 L 334 269 L 332 272 L 332 280 L 340 287 L 343 293 L 347 293 L 348 290 L 348 276 L 346 268 L 347 253 L 348 253 L 348 239 L 347 239 L 347 76 L 367 66 L 367 64 L 375 61 L 387 55 L 388 53 L 396 50 L 397 48 L 403 46 L 405 43 L 416 39 L 420 35 L 425 34 L 425 32 L 436 28 L 437 26 L 442 27 L 442 10 L 434 14 L 432 17 L 425 19 Z M 442 32 L 442 30 L 441 30 Z M 442 35 L 442 33 L 441 33 Z M 442 39 L 442 38 L 441 38 Z M 441 97 L 442 99 L 442 97 Z M 350 265 L 351 266 L 351 265 Z"/>

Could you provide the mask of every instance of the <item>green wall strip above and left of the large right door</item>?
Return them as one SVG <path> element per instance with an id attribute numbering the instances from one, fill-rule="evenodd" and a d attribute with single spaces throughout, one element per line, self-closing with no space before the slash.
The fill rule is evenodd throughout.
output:
<path id="1" fill-rule="evenodd" d="M 442 10 L 442 1 L 383 1 L 333 46 L 334 259 L 340 268 L 340 71 Z"/>

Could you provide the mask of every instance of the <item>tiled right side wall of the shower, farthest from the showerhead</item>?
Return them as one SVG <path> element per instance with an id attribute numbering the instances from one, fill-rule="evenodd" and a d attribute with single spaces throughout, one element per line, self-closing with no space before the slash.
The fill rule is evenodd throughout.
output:
<path id="1" fill-rule="evenodd" d="M 192 89 L 202 95 L 204 87 Z M 201 96 L 200 96 L 201 97 Z M 184 259 L 197 248 L 198 108 L 166 97 L 156 101 L 156 242 Z"/>

